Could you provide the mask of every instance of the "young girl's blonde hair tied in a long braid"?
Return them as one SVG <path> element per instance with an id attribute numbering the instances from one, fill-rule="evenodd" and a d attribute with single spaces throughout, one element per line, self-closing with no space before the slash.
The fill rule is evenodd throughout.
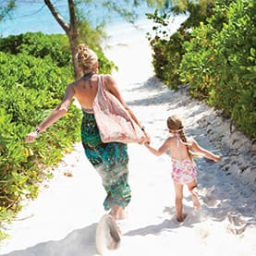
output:
<path id="1" fill-rule="evenodd" d="M 183 144 L 187 147 L 188 153 L 189 153 L 189 158 L 192 161 L 193 157 L 201 157 L 201 155 L 195 153 L 195 152 L 191 152 L 189 150 L 189 147 L 191 147 L 191 144 L 188 143 L 187 137 L 185 135 L 185 131 L 184 131 L 184 122 L 182 120 L 182 118 L 180 118 L 179 116 L 169 116 L 167 118 L 167 127 L 169 128 L 169 130 L 173 131 L 173 132 L 177 132 L 177 134 L 179 134 L 180 139 L 182 140 Z"/>

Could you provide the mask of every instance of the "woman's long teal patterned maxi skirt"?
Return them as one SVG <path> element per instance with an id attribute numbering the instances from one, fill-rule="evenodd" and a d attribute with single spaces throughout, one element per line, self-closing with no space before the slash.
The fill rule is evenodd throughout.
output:
<path id="1" fill-rule="evenodd" d="M 114 204 L 125 208 L 130 201 L 128 185 L 128 147 L 120 142 L 104 143 L 93 113 L 83 111 L 81 140 L 84 152 L 103 179 L 107 196 L 104 209 Z"/>

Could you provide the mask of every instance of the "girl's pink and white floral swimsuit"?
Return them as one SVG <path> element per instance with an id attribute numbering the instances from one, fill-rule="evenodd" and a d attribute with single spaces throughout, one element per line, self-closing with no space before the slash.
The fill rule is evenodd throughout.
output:
<path id="1" fill-rule="evenodd" d="M 179 136 L 177 136 L 177 146 L 182 142 Z M 172 158 L 172 178 L 177 183 L 182 185 L 191 183 L 197 175 L 196 165 L 189 159 L 177 160 Z"/>

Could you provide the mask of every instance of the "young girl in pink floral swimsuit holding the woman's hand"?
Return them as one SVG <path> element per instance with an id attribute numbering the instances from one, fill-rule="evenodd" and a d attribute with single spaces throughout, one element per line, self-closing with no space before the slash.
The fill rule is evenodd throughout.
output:
<path id="1" fill-rule="evenodd" d="M 204 156 L 217 162 L 220 160 L 220 156 L 201 148 L 196 140 L 187 138 L 184 133 L 182 119 L 178 116 L 169 116 L 167 127 L 171 136 L 165 140 L 164 144 L 158 150 L 152 148 L 149 143 L 145 143 L 145 146 L 157 156 L 167 150 L 170 151 L 173 165 L 172 178 L 176 192 L 177 221 L 182 222 L 186 217 L 186 214 L 182 213 L 183 185 L 188 186 L 194 207 L 196 209 L 200 208 L 200 201 L 198 200 L 197 194 L 196 165 L 193 157 Z"/>

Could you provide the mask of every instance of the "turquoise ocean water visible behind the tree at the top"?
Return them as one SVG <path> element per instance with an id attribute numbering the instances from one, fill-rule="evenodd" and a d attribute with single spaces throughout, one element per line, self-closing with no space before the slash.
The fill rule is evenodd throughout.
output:
<path id="1" fill-rule="evenodd" d="M 117 40 L 115 43 L 129 43 L 134 41 L 138 35 L 145 36 L 148 31 L 151 31 L 152 21 L 147 19 L 145 15 L 153 12 L 150 7 L 142 5 L 137 8 L 138 18 L 135 24 L 132 25 L 114 11 L 111 12 L 101 6 L 101 1 L 94 1 L 98 3 L 97 6 L 84 4 L 80 8 L 85 16 L 89 18 L 92 27 L 105 20 L 105 30 L 113 40 Z M 0 0 L 0 5 L 5 2 L 6 0 Z M 63 18 L 68 21 L 67 0 L 53 0 L 52 2 Z M 131 8 L 131 6 L 126 7 Z M 185 18 L 186 16 L 174 18 L 170 30 L 172 32 L 177 30 L 179 24 Z M 17 0 L 16 9 L 0 23 L 0 35 L 6 37 L 27 31 L 42 31 L 45 34 L 64 33 L 43 0 Z"/>

